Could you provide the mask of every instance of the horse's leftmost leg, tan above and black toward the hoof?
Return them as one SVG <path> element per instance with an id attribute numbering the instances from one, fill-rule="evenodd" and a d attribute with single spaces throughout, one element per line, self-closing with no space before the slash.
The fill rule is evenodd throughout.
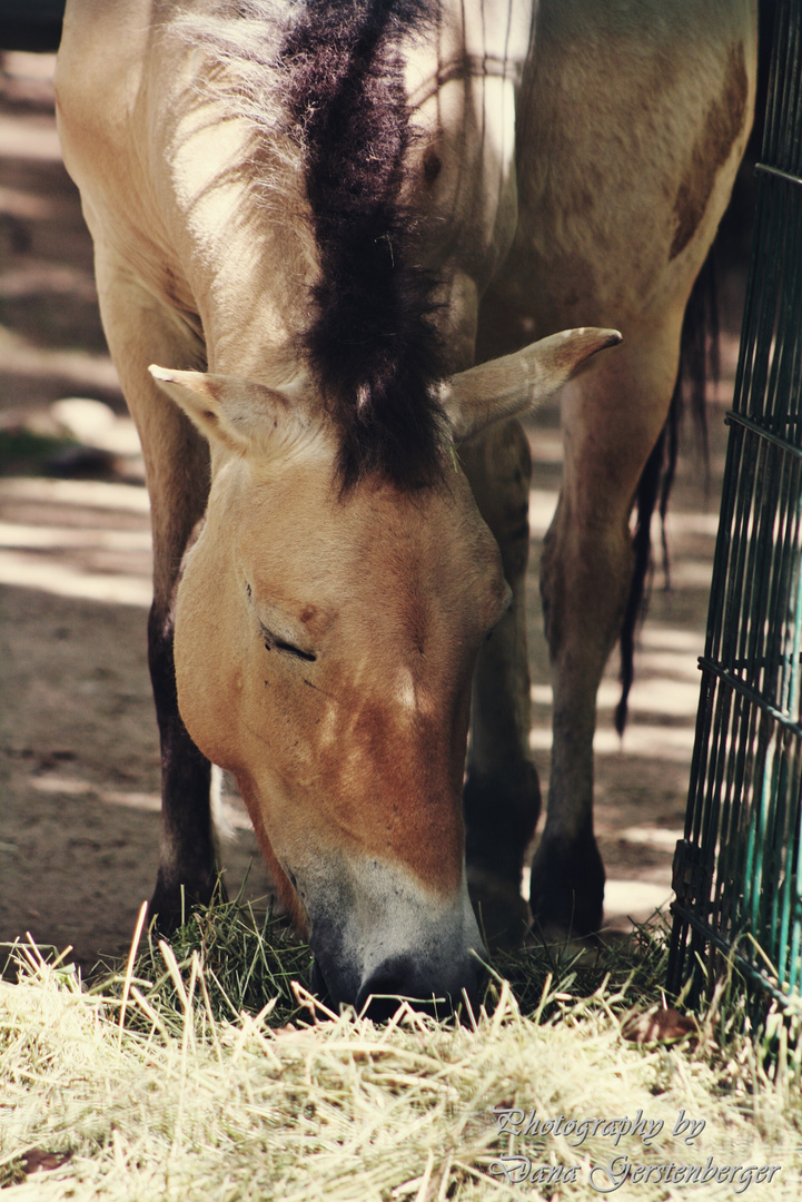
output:
<path id="1" fill-rule="evenodd" d="M 173 593 L 184 552 L 203 517 L 209 490 L 205 441 L 150 377 L 149 363 L 203 368 L 199 335 L 125 270 L 96 256 L 101 313 L 109 347 L 142 441 L 150 493 L 154 600 L 148 657 L 161 740 L 162 811 L 156 887 L 150 902 L 169 932 L 193 903 L 205 904 L 217 880 L 211 766 L 178 710 L 173 664 Z"/>

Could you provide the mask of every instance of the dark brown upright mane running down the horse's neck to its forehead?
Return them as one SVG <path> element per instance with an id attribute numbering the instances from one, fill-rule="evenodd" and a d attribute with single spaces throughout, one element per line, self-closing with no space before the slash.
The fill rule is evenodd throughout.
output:
<path id="1" fill-rule="evenodd" d="M 340 429 L 346 487 L 379 471 L 412 488 L 439 471 L 435 280 L 401 203 L 412 133 L 397 47 L 427 8 L 307 0 L 281 55 L 321 267 L 304 350 Z"/>

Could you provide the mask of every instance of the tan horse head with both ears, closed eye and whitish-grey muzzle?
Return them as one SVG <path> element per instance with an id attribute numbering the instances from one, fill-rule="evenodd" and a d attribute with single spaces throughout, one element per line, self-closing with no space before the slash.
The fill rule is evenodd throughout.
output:
<path id="1" fill-rule="evenodd" d="M 347 489 L 299 381 L 151 368 L 209 439 L 213 486 L 175 603 L 179 708 L 234 773 L 335 1001 L 459 1000 L 484 954 L 465 874 L 471 678 L 510 605 L 454 451 L 557 388 L 610 331 L 576 331 L 441 386 L 439 478 Z M 447 1005 L 450 1005 L 450 1000 Z"/>

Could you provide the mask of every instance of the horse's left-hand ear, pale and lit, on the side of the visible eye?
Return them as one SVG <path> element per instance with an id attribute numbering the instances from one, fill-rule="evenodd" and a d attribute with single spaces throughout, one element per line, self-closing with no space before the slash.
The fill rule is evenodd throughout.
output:
<path id="1" fill-rule="evenodd" d="M 306 430 L 303 406 L 277 388 L 203 371 L 172 371 L 151 364 L 148 370 L 167 395 L 184 410 L 210 442 L 245 454 L 267 450 Z"/>

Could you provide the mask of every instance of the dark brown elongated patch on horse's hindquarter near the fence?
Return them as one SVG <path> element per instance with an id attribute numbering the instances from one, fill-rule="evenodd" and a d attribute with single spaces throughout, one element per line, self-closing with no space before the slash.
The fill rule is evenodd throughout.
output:
<path id="1" fill-rule="evenodd" d="M 669 260 L 684 250 L 705 216 L 716 174 L 729 159 L 732 144 L 743 129 L 748 93 L 746 56 L 743 44 L 738 43 L 730 50 L 722 95 L 707 112 L 704 131 L 693 149 L 690 171 L 674 202 L 677 227 Z"/>

